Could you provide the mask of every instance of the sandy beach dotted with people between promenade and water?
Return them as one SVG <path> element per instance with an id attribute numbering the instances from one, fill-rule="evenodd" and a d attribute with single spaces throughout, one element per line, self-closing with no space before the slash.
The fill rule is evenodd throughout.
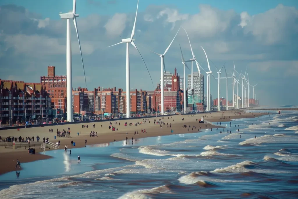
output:
<path id="1" fill-rule="evenodd" d="M 241 115 L 238 113 L 241 112 Z M 198 132 L 200 129 L 210 129 L 210 128 L 223 128 L 220 126 L 220 122 L 233 121 L 237 118 L 254 118 L 264 115 L 264 113 L 246 113 L 243 110 L 230 110 L 224 112 L 211 112 L 211 113 L 201 113 L 196 115 L 174 115 L 174 116 L 164 116 L 157 118 L 148 118 L 145 122 L 145 119 L 129 119 L 129 120 L 119 120 L 119 121 L 111 121 L 112 126 L 114 126 L 117 131 L 112 131 L 108 127 L 110 126 L 110 121 L 102 121 L 94 123 L 86 123 L 83 125 L 88 125 L 88 128 L 82 128 L 82 124 L 63 124 L 58 126 L 50 126 L 50 127 L 33 127 L 33 128 L 23 128 L 20 131 L 17 129 L 9 129 L 9 130 L 1 130 L 1 137 L 40 137 L 40 142 L 42 142 L 43 138 L 49 138 L 49 141 L 52 143 L 56 143 L 60 140 L 60 149 L 63 149 L 65 145 L 68 146 L 68 149 L 79 148 L 85 146 L 85 140 L 87 140 L 87 145 L 91 144 L 103 144 L 116 141 L 125 140 L 128 137 L 129 140 L 134 137 L 134 139 L 145 138 L 145 137 L 155 137 L 155 136 L 163 136 L 163 135 L 171 135 L 171 134 L 183 134 L 183 133 L 193 133 Z M 203 124 L 199 123 L 198 120 L 204 116 L 204 119 L 209 122 L 219 122 L 217 125 L 211 124 Z M 184 120 L 182 120 L 184 118 Z M 164 125 L 160 127 L 159 124 L 154 124 L 154 120 L 164 122 Z M 117 122 L 117 124 L 114 124 Z M 125 127 L 125 122 L 128 125 Z M 137 122 L 141 123 L 140 125 L 135 126 Z M 133 125 L 129 126 L 129 123 L 133 123 Z M 95 128 L 92 125 L 95 124 Z M 167 127 L 168 124 L 168 127 Z M 187 128 L 183 128 L 183 125 L 188 126 Z M 101 127 L 102 125 L 102 127 Z M 170 127 L 171 126 L 171 127 Z M 189 127 L 190 126 L 190 127 Z M 195 128 L 193 128 L 195 126 Z M 70 136 L 71 138 L 65 137 L 57 137 L 54 139 L 54 136 L 57 136 L 57 129 L 62 131 L 67 128 L 70 128 Z M 49 128 L 53 129 L 53 132 L 49 132 Z M 241 127 L 239 127 L 241 128 Z M 146 130 L 146 133 L 142 133 L 141 131 Z M 173 133 L 171 133 L 173 130 Z M 97 132 L 97 137 L 90 137 L 90 132 Z M 134 132 L 139 132 L 139 135 L 134 135 Z M 79 135 L 77 135 L 79 132 Z M 128 132 L 128 135 L 126 135 Z M 36 140 L 35 140 L 36 141 Z M 71 141 L 75 142 L 76 146 L 71 146 Z M 52 150 L 52 149 L 46 149 Z M 18 159 L 21 163 L 32 162 L 41 159 L 51 158 L 47 155 L 38 154 L 41 150 L 36 150 L 36 155 L 29 155 L 28 149 L 7 149 L 4 146 L 0 146 L 0 155 L 2 162 L 5 164 L 0 164 L 0 175 L 6 172 L 20 170 L 15 169 L 16 159 Z"/>

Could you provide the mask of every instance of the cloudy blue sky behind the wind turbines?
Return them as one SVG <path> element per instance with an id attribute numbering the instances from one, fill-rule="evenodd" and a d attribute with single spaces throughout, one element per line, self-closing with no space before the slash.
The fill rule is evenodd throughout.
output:
<path id="1" fill-rule="evenodd" d="M 99 86 L 126 90 L 125 45 L 107 46 L 130 37 L 136 4 L 137 0 L 77 0 L 76 13 L 80 15 L 77 26 L 89 90 Z M 239 73 L 247 69 L 249 83 L 257 84 L 255 93 L 260 104 L 297 105 L 297 5 L 296 0 L 139 0 L 134 39 L 154 85 L 131 45 L 130 87 L 156 88 L 160 79 L 160 58 L 149 50 L 164 53 L 182 26 L 204 69 L 208 67 L 207 60 L 200 46 L 218 68 L 225 64 L 228 76 L 233 71 L 233 61 Z M 56 67 L 57 75 L 65 75 L 66 21 L 60 19 L 59 13 L 70 10 L 72 0 L 1 0 L 0 78 L 39 82 L 40 76 L 47 74 L 49 65 Z M 85 87 L 72 21 L 71 40 L 73 87 Z M 164 61 L 167 71 L 173 73 L 176 67 L 183 76 L 179 44 L 184 58 L 192 58 L 186 33 L 180 29 Z M 214 64 L 210 63 L 210 67 L 216 77 Z M 197 72 L 196 67 L 194 72 Z M 203 70 L 201 72 L 205 75 Z M 190 74 L 190 70 L 186 69 L 186 73 Z M 221 77 L 225 76 L 222 71 Z M 228 100 L 232 100 L 231 84 L 229 79 Z M 217 97 L 217 85 L 211 78 L 212 98 Z M 252 87 L 250 90 L 252 98 Z M 226 98 L 225 80 L 221 81 L 220 97 Z"/>

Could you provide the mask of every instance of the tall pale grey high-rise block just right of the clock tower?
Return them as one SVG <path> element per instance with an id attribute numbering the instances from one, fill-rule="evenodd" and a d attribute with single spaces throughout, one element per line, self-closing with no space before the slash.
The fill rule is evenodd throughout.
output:
<path id="1" fill-rule="evenodd" d="M 199 78 L 199 73 L 193 73 L 193 88 L 194 96 L 188 95 L 188 104 L 203 103 L 204 101 L 204 75 L 201 74 L 201 82 Z M 187 75 L 187 90 L 191 90 L 191 74 Z M 201 96 L 201 99 L 200 99 Z"/>

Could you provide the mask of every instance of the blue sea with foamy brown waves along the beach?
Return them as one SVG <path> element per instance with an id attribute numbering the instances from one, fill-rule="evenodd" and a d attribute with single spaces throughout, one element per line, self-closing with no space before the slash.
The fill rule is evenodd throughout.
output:
<path id="1" fill-rule="evenodd" d="M 224 129 L 46 151 L 52 159 L 0 176 L 0 198 L 298 198 L 298 112 L 255 114 Z"/>

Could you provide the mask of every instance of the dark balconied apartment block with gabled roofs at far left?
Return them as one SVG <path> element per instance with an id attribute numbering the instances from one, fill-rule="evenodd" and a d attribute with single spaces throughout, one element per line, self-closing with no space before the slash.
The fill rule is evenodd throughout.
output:
<path id="1" fill-rule="evenodd" d="M 51 98 L 41 83 L 0 79 L 0 119 L 2 124 L 21 123 L 49 117 Z"/>

